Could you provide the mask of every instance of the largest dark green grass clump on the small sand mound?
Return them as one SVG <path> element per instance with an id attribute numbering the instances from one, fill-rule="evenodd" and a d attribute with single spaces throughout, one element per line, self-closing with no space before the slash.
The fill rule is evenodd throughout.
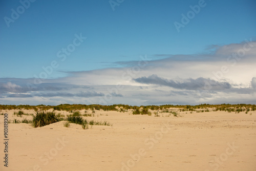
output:
<path id="1" fill-rule="evenodd" d="M 34 127 L 41 127 L 58 121 L 59 117 L 54 112 L 36 112 L 36 115 L 33 116 L 32 125 Z"/>

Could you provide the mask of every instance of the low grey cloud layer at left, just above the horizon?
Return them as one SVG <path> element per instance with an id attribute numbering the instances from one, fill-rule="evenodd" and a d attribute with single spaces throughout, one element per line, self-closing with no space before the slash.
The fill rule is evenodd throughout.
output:
<path id="1" fill-rule="evenodd" d="M 103 93 L 95 92 L 92 90 L 94 88 L 88 86 L 63 82 L 46 82 L 27 86 L 30 82 L 31 79 L 0 78 L 0 98 L 104 96 Z M 81 91 L 81 89 L 87 91 Z"/>

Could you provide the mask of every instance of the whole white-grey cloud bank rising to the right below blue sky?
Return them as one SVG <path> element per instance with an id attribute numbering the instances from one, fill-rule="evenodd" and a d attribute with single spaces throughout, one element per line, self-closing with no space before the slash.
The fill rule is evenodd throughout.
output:
<path id="1" fill-rule="evenodd" d="M 244 41 L 211 45 L 198 54 L 138 56 L 137 61 L 112 62 L 118 68 L 70 71 L 40 83 L 0 78 L 0 104 L 255 103 L 255 55 L 256 42 Z"/>

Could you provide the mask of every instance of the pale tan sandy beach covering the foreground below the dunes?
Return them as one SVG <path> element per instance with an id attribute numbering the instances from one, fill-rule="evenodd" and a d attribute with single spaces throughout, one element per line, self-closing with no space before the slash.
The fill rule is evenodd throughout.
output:
<path id="1" fill-rule="evenodd" d="M 13 116 L 13 110 L 2 112 L 9 119 L 22 119 Z M 65 121 L 38 128 L 9 123 L 8 168 L 0 115 L 0 170 L 256 170 L 255 111 L 180 115 L 96 111 L 94 117 L 84 118 L 113 126 L 93 125 L 88 130 L 73 123 L 64 127 Z"/>

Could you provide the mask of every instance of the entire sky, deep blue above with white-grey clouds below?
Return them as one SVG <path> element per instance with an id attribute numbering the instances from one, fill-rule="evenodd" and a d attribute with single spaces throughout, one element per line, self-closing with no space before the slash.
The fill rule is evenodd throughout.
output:
<path id="1" fill-rule="evenodd" d="M 255 104 L 255 16 L 252 0 L 1 1 L 0 104 Z"/>

